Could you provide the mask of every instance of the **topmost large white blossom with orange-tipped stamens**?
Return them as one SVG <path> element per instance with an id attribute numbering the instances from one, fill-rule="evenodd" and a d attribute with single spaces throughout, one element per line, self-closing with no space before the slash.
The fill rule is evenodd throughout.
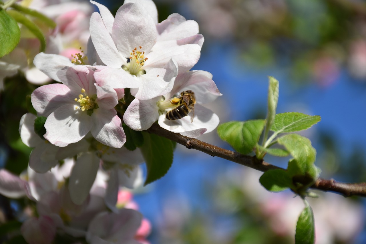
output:
<path id="1" fill-rule="evenodd" d="M 96 73 L 97 81 L 105 80 L 113 88 L 131 88 L 133 96 L 147 100 L 169 92 L 178 70 L 187 71 L 198 61 L 201 46 L 189 41 L 177 45 L 173 40 L 174 44 L 154 48 L 159 34 L 152 1 L 124 3 L 114 19 L 103 5 L 91 2 L 101 10 L 91 16 L 91 40 L 101 61 L 111 67 Z"/>

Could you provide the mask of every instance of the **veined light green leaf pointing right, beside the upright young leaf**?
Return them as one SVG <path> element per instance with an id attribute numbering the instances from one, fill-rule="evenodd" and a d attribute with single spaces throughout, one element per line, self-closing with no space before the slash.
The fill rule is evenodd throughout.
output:
<path id="1" fill-rule="evenodd" d="M 276 114 L 275 122 L 273 123 L 271 130 L 277 132 L 277 134 L 306 130 L 320 120 L 321 118 L 318 115 L 311 116 L 298 112 Z"/>

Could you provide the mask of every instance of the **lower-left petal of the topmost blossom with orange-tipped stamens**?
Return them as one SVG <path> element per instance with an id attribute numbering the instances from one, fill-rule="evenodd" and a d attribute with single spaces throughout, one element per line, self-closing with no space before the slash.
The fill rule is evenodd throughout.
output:
<path id="1" fill-rule="evenodd" d="M 114 89 L 138 88 L 141 82 L 135 75 L 122 69 L 105 68 L 96 70 L 94 78 L 99 86 L 111 86 Z"/>

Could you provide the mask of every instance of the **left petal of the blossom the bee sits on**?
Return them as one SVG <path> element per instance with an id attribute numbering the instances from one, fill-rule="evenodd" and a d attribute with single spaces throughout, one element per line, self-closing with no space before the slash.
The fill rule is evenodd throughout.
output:
<path id="1" fill-rule="evenodd" d="M 123 122 L 132 130 L 147 130 L 159 118 L 156 102 L 159 100 L 134 99 L 123 115 Z"/>

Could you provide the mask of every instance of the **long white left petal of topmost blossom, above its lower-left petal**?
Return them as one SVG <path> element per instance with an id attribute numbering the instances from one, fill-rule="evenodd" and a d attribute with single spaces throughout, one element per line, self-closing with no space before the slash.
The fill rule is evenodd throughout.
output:
<path id="1" fill-rule="evenodd" d="M 105 27 L 102 17 L 97 12 L 94 12 L 90 17 L 89 30 L 91 40 L 102 62 L 109 67 L 120 68 L 124 60 Z"/>

